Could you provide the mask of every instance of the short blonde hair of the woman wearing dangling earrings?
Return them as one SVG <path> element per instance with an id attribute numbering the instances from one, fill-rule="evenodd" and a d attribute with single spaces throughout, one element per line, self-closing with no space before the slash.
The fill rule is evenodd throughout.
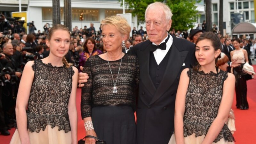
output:
<path id="1" fill-rule="evenodd" d="M 127 41 L 129 39 L 129 35 L 131 32 L 131 26 L 128 24 L 127 20 L 122 16 L 111 16 L 104 18 L 100 22 L 101 29 L 104 25 L 111 25 L 114 26 L 118 32 L 120 32 L 122 35 L 127 35 Z"/>

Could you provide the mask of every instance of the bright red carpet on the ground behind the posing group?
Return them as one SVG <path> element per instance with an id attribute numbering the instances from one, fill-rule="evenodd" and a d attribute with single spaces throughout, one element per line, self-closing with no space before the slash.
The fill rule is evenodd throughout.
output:
<path id="1" fill-rule="evenodd" d="M 254 65 L 254 70 L 256 70 L 256 65 Z M 254 79 L 247 81 L 247 100 L 249 103 L 249 110 L 239 110 L 236 109 L 236 98 L 234 97 L 234 102 L 232 109 L 234 110 L 236 117 L 236 131 L 234 137 L 236 139 L 236 144 L 252 144 L 255 143 L 255 120 L 256 120 L 256 76 Z M 78 115 L 78 127 L 77 127 L 77 139 L 80 140 L 85 136 L 84 121 L 81 118 L 80 112 L 80 102 L 81 102 L 81 89 L 77 89 L 76 97 L 76 107 Z M 11 136 L 0 135 L 1 144 L 9 144 L 15 129 L 10 130 Z"/>

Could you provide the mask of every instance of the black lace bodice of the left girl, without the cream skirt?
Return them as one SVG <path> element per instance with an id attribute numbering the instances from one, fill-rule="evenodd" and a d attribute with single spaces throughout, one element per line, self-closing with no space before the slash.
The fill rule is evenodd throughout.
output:
<path id="1" fill-rule="evenodd" d="M 39 133 L 47 125 L 70 131 L 68 100 L 72 89 L 72 67 L 53 67 L 42 60 L 34 61 L 35 71 L 28 99 L 28 130 Z"/>

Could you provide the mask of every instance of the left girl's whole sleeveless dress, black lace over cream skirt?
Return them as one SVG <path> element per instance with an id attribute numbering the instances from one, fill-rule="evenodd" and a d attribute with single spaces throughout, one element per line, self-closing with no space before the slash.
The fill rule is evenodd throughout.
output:
<path id="1" fill-rule="evenodd" d="M 31 144 L 70 144 L 68 101 L 74 70 L 34 61 L 34 80 L 28 99 L 27 127 Z M 20 144 L 18 130 L 11 144 Z"/>

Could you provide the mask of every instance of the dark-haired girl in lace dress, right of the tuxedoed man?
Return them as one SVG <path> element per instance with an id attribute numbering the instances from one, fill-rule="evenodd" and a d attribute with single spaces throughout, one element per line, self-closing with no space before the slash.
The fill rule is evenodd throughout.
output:
<path id="1" fill-rule="evenodd" d="M 180 75 L 175 102 L 174 134 L 169 144 L 233 144 L 225 122 L 234 97 L 235 77 L 216 67 L 220 39 L 203 33 L 196 42 L 194 68 Z"/>

